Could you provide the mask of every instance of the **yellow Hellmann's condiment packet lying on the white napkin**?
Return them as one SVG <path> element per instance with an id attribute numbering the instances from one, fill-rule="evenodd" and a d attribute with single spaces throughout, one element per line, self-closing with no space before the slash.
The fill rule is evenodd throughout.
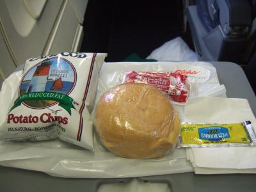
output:
<path id="1" fill-rule="evenodd" d="M 180 147 L 232 147 L 256 145 L 250 121 L 237 124 L 189 124 L 181 126 Z"/>

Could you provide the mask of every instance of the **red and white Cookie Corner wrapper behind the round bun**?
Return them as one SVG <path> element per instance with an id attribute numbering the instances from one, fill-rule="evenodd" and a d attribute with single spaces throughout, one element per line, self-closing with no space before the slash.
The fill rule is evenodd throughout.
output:
<path id="1" fill-rule="evenodd" d="M 165 92 L 169 99 L 184 103 L 188 99 L 188 76 L 173 72 L 136 72 L 125 74 L 123 83 L 145 83 Z"/>

